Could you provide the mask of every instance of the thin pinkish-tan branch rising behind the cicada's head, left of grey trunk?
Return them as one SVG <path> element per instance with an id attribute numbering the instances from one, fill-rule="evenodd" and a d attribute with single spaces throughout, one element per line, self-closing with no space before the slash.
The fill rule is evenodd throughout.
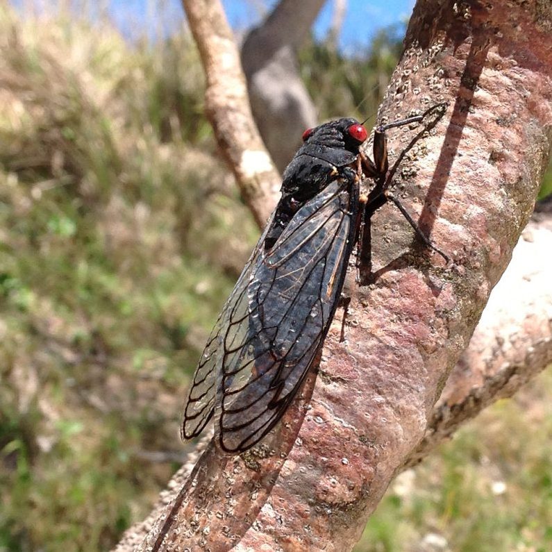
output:
<path id="1" fill-rule="evenodd" d="M 260 227 L 281 179 L 253 122 L 240 53 L 219 0 L 183 0 L 207 78 L 205 112 L 219 149 Z"/>

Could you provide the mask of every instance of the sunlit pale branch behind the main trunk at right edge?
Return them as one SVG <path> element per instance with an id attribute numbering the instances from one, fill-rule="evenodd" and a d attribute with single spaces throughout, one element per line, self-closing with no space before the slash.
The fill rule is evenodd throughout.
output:
<path id="1" fill-rule="evenodd" d="M 454 367 L 415 465 L 488 405 L 512 396 L 552 364 L 552 217 L 532 221 L 492 290 L 469 347 Z"/>

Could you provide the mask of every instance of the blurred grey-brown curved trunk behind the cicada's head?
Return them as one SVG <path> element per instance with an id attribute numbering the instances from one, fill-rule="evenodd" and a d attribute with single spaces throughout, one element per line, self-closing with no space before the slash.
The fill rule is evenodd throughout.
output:
<path id="1" fill-rule="evenodd" d="M 306 128 L 317 125 L 315 106 L 297 66 L 296 51 L 326 0 L 281 0 L 242 46 L 253 117 L 276 167 L 283 172 Z"/>

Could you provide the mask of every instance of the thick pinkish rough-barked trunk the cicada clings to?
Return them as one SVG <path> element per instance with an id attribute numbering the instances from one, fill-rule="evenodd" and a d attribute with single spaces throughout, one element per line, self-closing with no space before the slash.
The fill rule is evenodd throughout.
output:
<path id="1" fill-rule="evenodd" d="M 265 444 L 237 458 L 208 446 L 142 550 L 351 549 L 423 440 L 533 208 L 550 147 L 551 30 L 540 0 L 418 2 L 382 113 L 451 102 L 395 181 L 453 267 L 392 206 L 378 212 L 377 279 L 351 286 L 346 342 L 336 321 L 319 377 Z M 392 155 L 412 134 L 392 133 Z"/>

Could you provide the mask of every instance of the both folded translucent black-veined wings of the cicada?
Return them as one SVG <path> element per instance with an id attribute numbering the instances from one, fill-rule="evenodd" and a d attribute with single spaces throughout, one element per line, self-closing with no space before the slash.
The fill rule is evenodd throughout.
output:
<path id="1" fill-rule="evenodd" d="M 214 412 L 222 449 L 240 452 L 280 419 L 335 312 L 357 208 L 356 186 L 339 178 L 296 212 L 268 251 L 261 237 L 196 370 L 185 437 Z"/>

